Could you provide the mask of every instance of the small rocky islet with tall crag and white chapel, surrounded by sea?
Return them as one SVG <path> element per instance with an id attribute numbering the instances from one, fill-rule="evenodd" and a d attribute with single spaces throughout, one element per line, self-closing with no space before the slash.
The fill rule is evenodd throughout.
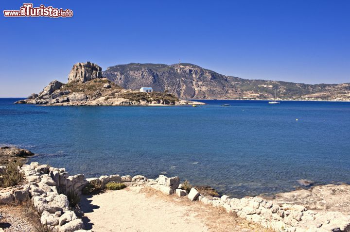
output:
<path id="1" fill-rule="evenodd" d="M 142 86 L 140 86 L 142 87 Z M 102 68 L 90 62 L 75 64 L 68 83 L 53 81 L 38 94 L 17 104 L 41 105 L 189 105 L 204 104 L 181 100 L 172 94 L 126 90 L 102 77 Z"/>

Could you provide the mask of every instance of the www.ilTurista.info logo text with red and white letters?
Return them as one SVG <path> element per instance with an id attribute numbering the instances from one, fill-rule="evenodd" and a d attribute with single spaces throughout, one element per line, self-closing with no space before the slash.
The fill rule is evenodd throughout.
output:
<path id="1" fill-rule="evenodd" d="M 23 3 L 19 10 L 4 10 L 5 17 L 72 17 L 73 11 L 53 8 L 52 6 L 40 5 L 33 7 L 33 3 Z"/>

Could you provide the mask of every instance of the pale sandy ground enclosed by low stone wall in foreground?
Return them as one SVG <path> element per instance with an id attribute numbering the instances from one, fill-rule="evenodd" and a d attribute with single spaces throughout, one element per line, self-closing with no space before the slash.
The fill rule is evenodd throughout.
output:
<path id="1" fill-rule="evenodd" d="M 94 232 L 264 231 L 222 210 L 150 188 L 106 191 L 81 203 L 86 229 Z"/>

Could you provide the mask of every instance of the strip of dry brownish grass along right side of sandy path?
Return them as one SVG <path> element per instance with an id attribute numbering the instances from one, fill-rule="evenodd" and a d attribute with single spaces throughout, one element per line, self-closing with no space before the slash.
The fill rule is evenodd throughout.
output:
<path id="1" fill-rule="evenodd" d="M 212 232 L 273 232 L 270 229 L 263 228 L 253 222 L 239 218 L 234 214 L 228 214 L 222 208 L 214 208 L 200 201 L 190 201 L 186 197 L 180 198 L 173 195 L 165 195 L 152 188 L 142 188 L 140 192 L 144 193 L 146 197 L 149 198 L 157 198 L 169 201 L 172 204 L 190 207 L 191 211 L 189 211 L 188 214 L 195 213 L 196 217 L 203 220 L 209 228 L 209 231 Z"/>

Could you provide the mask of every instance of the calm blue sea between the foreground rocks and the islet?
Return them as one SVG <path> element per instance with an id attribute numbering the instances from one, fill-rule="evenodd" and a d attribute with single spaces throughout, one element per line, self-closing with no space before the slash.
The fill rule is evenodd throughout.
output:
<path id="1" fill-rule="evenodd" d="M 0 144 L 87 177 L 179 176 L 232 197 L 350 183 L 350 102 L 39 106 L 0 99 Z M 222 107 L 222 104 L 230 104 Z"/>

